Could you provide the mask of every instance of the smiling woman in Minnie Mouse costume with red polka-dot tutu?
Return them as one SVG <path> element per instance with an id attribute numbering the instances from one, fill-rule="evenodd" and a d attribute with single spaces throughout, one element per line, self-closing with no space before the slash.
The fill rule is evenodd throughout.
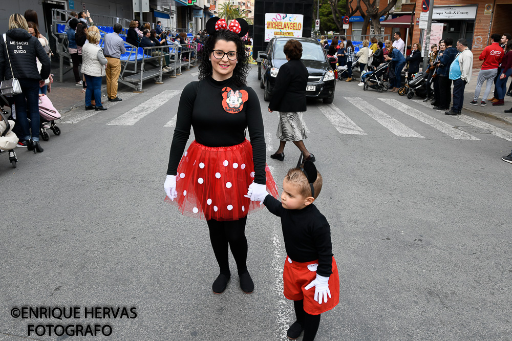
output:
<path id="1" fill-rule="evenodd" d="M 278 188 L 265 163 L 266 147 L 260 101 L 250 87 L 250 70 L 241 39 L 249 30 L 244 19 L 210 18 L 209 34 L 198 53 L 199 82 L 183 90 L 170 147 L 165 200 L 182 214 L 205 219 L 220 267 L 212 285 L 222 293 L 230 279 L 228 245 L 237 263 L 240 287 L 254 290 L 247 271 L 245 224 L 249 212 L 262 208 L 250 198 Z M 194 127 L 194 140 L 183 154 Z M 245 138 L 248 129 L 250 142 Z M 248 194 L 248 188 L 251 195 Z"/>

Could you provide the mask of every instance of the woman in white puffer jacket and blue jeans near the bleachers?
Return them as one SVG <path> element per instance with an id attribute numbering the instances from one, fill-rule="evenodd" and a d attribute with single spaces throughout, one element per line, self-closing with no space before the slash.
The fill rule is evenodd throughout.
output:
<path id="1" fill-rule="evenodd" d="M 87 33 L 89 44 L 84 44 L 82 47 L 82 73 L 85 75 L 88 84 L 86 110 L 106 110 L 101 105 L 101 78 L 106 75 L 105 65 L 107 60 L 103 55 L 103 50 L 99 47 L 100 39 L 101 35 L 91 30 Z M 95 106 L 91 103 L 93 92 L 96 100 Z"/>

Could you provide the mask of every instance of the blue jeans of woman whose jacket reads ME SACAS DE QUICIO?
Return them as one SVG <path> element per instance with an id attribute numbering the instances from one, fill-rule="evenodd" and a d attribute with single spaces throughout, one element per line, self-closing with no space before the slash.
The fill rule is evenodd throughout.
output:
<path id="1" fill-rule="evenodd" d="M 18 78 L 22 93 L 15 95 L 16 121 L 22 127 L 25 140 L 39 141 L 39 81 L 34 78 Z M 28 111 L 28 113 L 27 113 Z M 28 114 L 28 116 L 27 116 Z M 30 117 L 30 124 L 28 118 Z"/>

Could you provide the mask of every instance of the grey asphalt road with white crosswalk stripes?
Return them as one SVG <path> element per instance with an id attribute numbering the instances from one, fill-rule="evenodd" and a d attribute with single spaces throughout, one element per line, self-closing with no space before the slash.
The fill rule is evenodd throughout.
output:
<path id="1" fill-rule="evenodd" d="M 163 201 L 173 117 L 196 78 L 192 69 L 146 82 L 144 93 L 120 94 L 90 117 L 67 113 L 44 153 L 16 149 L 16 169 L 0 155 L 0 340 L 49 324 L 111 326 L 94 339 L 286 339 L 294 314 L 282 294 L 279 220 L 249 216 L 254 292 L 241 291 L 231 258 L 228 288 L 215 295 L 206 223 Z M 290 144 L 284 162 L 270 159 L 278 113 L 267 112 L 255 70 L 249 85 L 281 188 L 299 153 Z M 512 165 L 501 160 L 512 127 L 464 114 L 354 82 L 337 83 L 333 105 L 308 104 L 305 143 L 324 178 L 316 205 L 331 225 L 341 292 L 317 340 L 512 339 Z M 23 306 L 79 307 L 80 318 L 11 316 Z M 84 318 L 91 307 L 135 307 L 136 317 Z M 46 328 L 30 338 L 75 338 Z"/>

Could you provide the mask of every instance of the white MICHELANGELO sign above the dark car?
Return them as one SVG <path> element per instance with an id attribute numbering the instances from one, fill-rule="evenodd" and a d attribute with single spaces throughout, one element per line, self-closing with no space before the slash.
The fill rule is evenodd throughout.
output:
<path id="1" fill-rule="evenodd" d="M 265 41 L 275 36 L 302 37 L 304 15 L 265 13 Z"/>

